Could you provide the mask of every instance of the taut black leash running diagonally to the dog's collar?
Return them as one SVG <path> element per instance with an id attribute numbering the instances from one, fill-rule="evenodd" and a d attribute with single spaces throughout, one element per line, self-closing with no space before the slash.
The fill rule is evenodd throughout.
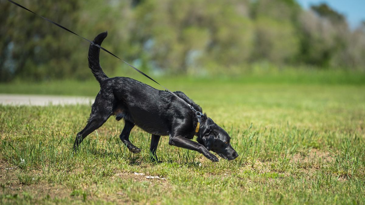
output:
<path id="1" fill-rule="evenodd" d="M 124 62 L 124 63 L 126 63 L 128 66 L 132 67 L 134 70 L 137 70 L 137 71 L 138 71 L 138 73 L 141 73 L 143 76 L 145 76 L 145 77 L 149 78 L 151 81 L 153 81 L 153 82 L 157 83 L 157 84 L 158 84 L 158 85 L 160 85 L 162 88 L 165 88 L 168 92 L 170 92 L 170 93 L 171 93 L 171 94 L 173 94 L 175 97 L 177 97 L 177 99 L 179 99 L 181 102 L 183 102 L 184 104 L 186 104 L 186 105 L 187 105 L 190 109 L 192 109 L 192 111 L 194 111 L 194 112 L 195 112 L 195 114 L 198 116 L 198 121 L 200 121 L 200 117 L 203 115 L 203 113 L 201 113 L 201 112 L 199 112 L 199 111 L 196 111 L 196 109 L 195 109 L 192 105 L 190 105 L 187 101 L 185 101 L 185 100 L 181 99 L 179 96 L 177 96 L 177 94 L 175 94 L 175 93 L 171 92 L 171 90 L 169 90 L 169 89 L 167 89 L 165 86 L 163 86 L 163 85 L 159 84 L 157 81 L 153 80 L 153 78 L 149 77 L 147 74 L 143 73 L 141 70 L 139 70 L 139 69 L 137 69 L 136 67 L 132 66 L 131 64 L 127 63 L 127 62 L 126 62 L 126 61 L 124 61 L 123 59 L 120 59 L 118 56 L 114 55 L 112 52 L 108 51 L 107 49 L 104 49 L 103 47 L 101 47 L 100 45 L 97 45 L 96 43 L 92 42 L 91 40 L 89 40 L 89 39 L 87 39 L 87 38 L 84 38 L 84 37 L 82 37 L 82 36 L 80 36 L 80 35 L 76 34 L 75 32 L 73 32 L 73 31 L 69 30 L 68 28 L 66 28 L 66 27 L 64 27 L 64 26 L 61 26 L 61 25 L 59 25 L 58 23 L 56 23 L 56 22 L 54 22 L 54 21 L 52 21 L 52 20 L 49 20 L 49 19 L 47 19 L 47 18 L 45 18 L 45 17 L 43 17 L 43 16 L 41 16 L 41 15 L 39 15 L 39 14 L 37 14 L 37 13 L 35 13 L 35 12 L 33 12 L 33 11 L 29 10 L 29 9 L 27 9 L 26 7 L 24 7 L 24 6 L 20 5 L 20 4 L 18 4 L 18 3 L 16 3 L 16 2 L 14 2 L 14 1 L 12 1 L 12 0 L 8 0 L 8 1 L 9 1 L 10 3 L 12 3 L 12 4 L 17 5 L 17 6 L 18 6 L 18 7 L 20 7 L 20 8 L 23 8 L 23 9 L 25 9 L 25 10 L 29 11 L 29 12 L 34 13 L 35 15 L 37 15 L 37 16 L 39 16 L 39 17 L 41 17 L 42 19 L 46 20 L 47 22 L 50 22 L 50 23 L 52 23 L 52 24 L 54 24 L 54 25 L 56 25 L 56 26 L 58 26 L 58 27 L 60 27 L 60 28 L 62 28 L 62 29 L 64 29 L 64 30 L 66 30 L 66 31 L 68 31 L 68 32 L 70 32 L 70 33 L 72 33 L 72 34 L 77 35 L 78 37 L 80 37 L 80 38 L 82 38 L 82 39 L 84 39 L 84 40 L 88 41 L 89 43 L 92 43 L 93 45 L 95 45 L 95 46 L 99 47 L 101 50 L 103 50 L 103 51 L 107 52 L 108 54 L 110 54 L 110 55 L 114 56 L 115 58 L 118 58 L 119 60 L 123 61 L 123 62 Z"/>

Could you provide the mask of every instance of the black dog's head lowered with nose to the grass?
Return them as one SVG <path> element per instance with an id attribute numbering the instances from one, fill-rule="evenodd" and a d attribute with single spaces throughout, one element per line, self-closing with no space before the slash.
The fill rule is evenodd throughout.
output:
<path id="1" fill-rule="evenodd" d="M 197 142 L 202 144 L 207 150 L 217 153 L 227 160 L 237 158 L 238 154 L 231 146 L 231 137 L 224 129 L 214 123 L 209 117 L 204 117 L 201 121 Z"/>

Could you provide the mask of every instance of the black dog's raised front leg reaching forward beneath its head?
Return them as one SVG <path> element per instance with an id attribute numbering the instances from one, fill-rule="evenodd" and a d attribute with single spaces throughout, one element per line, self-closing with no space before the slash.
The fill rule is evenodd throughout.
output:
<path id="1" fill-rule="evenodd" d="M 197 151 L 203 154 L 206 158 L 212 160 L 212 162 L 219 161 L 219 159 L 214 154 L 210 153 L 203 145 L 184 138 L 183 136 L 170 136 L 169 145 Z"/>

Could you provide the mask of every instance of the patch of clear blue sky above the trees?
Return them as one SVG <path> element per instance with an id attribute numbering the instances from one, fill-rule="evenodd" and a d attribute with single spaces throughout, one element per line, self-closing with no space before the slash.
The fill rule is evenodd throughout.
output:
<path id="1" fill-rule="evenodd" d="M 297 0 L 304 8 L 311 4 L 327 3 L 339 13 L 346 16 L 351 28 L 357 27 L 365 20 L 365 0 Z"/>

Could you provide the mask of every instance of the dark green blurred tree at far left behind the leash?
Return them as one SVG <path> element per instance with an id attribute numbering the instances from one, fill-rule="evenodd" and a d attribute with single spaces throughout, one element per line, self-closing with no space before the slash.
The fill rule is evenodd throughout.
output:
<path id="1" fill-rule="evenodd" d="M 47 16 L 66 27 L 77 22 L 77 1 L 20 1 L 39 15 Z M 38 16 L 8 1 L 1 0 L 1 81 L 15 77 L 45 80 L 62 78 L 76 67 L 68 62 L 77 40 Z M 41 5 L 35 8 L 34 5 Z M 57 56 L 57 58 L 55 58 Z"/>

